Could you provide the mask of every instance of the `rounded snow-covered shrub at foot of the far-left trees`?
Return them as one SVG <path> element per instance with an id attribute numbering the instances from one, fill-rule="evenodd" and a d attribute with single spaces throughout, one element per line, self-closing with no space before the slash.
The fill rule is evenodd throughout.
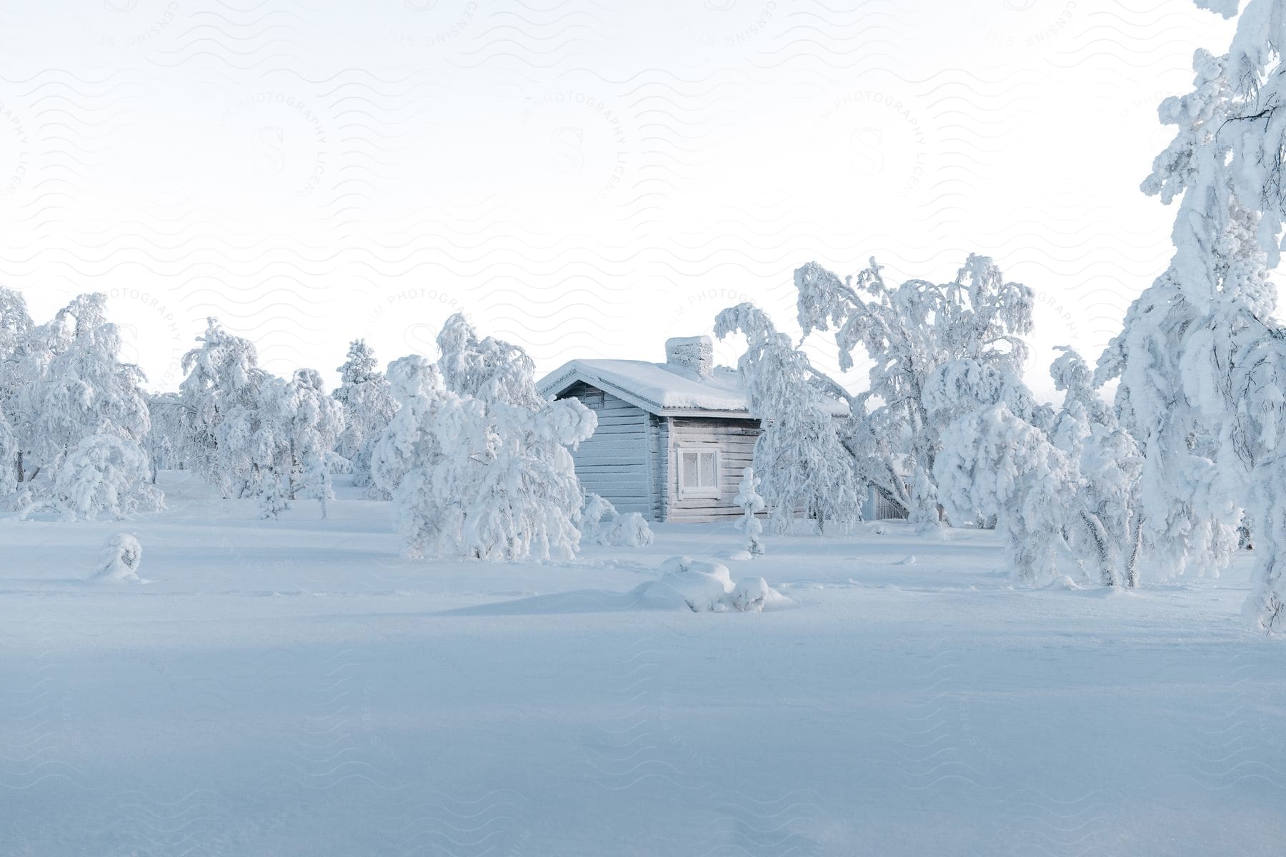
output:
<path id="1" fill-rule="evenodd" d="M 159 511 L 162 495 L 152 484 L 148 456 L 134 441 L 94 434 L 73 448 L 58 468 L 49 506 L 73 520 L 99 514 L 121 518 Z"/>

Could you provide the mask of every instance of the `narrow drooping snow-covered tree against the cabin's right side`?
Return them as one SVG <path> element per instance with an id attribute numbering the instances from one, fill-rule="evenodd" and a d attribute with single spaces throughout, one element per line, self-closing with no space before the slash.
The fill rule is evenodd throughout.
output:
<path id="1" fill-rule="evenodd" d="M 746 335 L 737 367 L 750 414 L 763 425 L 755 441 L 755 466 L 773 528 L 786 532 L 796 509 L 804 509 L 819 529 L 859 520 L 862 483 L 836 433 L 833 407 L 841 405 L 842 412 L 847 393 L 817 373 L 808 356 L 754 305 L 729 307 L 715 319 L 715 335 L 737 331 Z"/>

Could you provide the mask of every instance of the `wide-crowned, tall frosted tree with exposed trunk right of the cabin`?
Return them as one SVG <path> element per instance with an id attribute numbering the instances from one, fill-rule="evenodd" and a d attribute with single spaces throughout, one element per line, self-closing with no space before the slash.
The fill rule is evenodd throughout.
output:
<path id="1" fill-rule="evenodd" d="M 1026 357 L 1022 335 L 1031 329 L 1031 289 L 1006 281 L 990 258 L 975 254 L 945 284 L 892 287 L 872 260 L 855 283 L 809 262 L 795 271 L 795 287 L 805 337 L 833 328 L 841 369 L 853 367 L 859 346 L 872 361 L 844 438 L 859 477 L 919 528 L 936 527 L 939 425 L 925 410 L 925 385 L 955 360 L 1019 373 Z"/>

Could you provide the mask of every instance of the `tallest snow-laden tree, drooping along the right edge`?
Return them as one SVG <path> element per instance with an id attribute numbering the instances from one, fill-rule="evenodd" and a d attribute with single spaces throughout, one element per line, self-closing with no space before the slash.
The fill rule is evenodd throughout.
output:
<path id="1" fill-rule="evenodd" d="M 1236 0 L 1199 0 L 1224 15 Z M 1177 127 L 1143 190 L 1181 199 L 1166 271 L 1130 306 L 1124 330 L 1100 360 L 1119 378 L 1116 405 L 1138 439 L 1141 532 L 1157 576 L 1218 570 L 1237 545 L 1247 508 L 1256 587 L 1247 612 L 1286 630 L 1286 576 L 1273 369 L 1286 351 L 1273 320 L 1268 271 L 1286 224 L 1286 0 L 1245 4 L 1227 54 L 1199 50 L 1191 93 L 1169 98 L 1161 121 Z"/>

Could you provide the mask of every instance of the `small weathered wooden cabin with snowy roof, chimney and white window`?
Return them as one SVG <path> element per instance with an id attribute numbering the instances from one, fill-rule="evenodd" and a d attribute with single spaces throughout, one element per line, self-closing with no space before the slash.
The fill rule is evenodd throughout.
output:
<path id="1" fill-rule="evenodd" d="M 714 365 L 709 337 L 669 339 L 665 355 L 664 364 L 572 360 L 540 392 L 575 396 L 598 415 L 598 429 L 574 452 L 586 492 L 648 520 L 736 518 L 732 499 L 759 436 L 741 375 Z"/>

